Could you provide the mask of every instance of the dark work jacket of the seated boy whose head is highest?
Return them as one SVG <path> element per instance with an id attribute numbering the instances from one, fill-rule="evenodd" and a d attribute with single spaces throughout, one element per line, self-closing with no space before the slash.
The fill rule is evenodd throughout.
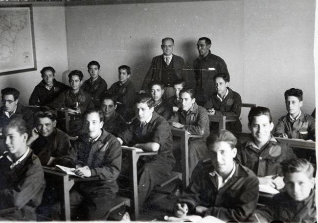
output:
<path id="1" fill-rule="evenodd" d="M 93 99 L 99 99 L 99 97 L 106 92 L 107 83 L 98 75 L 97 79 L 91 82 L 91 78 L 84 81 L 82 86 L 83 90 L 91 95 Z"/>

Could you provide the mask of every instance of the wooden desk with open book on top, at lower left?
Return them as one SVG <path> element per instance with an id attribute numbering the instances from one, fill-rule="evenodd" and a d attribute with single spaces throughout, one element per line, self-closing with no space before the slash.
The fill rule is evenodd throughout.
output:
<path id="1" fill-rule="evenodd" d="M 53 168 L 43 167 L 45 178 L 51 178 L 56 183 L 59 190 L 60 201 L 61 201 L 61 218 L 64 221 L 70 221 L 70 203 L 69 203 L 69 191 L 79 181 L 93 181 L 99 180 L 98 177 L 80 178 L 70 176 L 66 173 L 54 171 Z"/>

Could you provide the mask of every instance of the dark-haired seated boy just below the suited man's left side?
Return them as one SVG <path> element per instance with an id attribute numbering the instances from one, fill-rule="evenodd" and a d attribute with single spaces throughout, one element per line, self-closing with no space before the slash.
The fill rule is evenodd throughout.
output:
<path id="1" fill-rule="evenodd" d="M 153 80 L 148 84 L 151 98 L 154 99 L 155 112 L 166 120 L 169 120 L 173 114 L 172 105 L 162 98 L 164 85 L 159 80 Z"/>

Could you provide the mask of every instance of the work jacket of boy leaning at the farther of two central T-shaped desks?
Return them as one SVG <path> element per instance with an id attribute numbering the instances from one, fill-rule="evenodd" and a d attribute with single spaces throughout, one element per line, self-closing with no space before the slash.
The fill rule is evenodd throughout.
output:
<path id="1" fill-rule="evenodd" d="M 194 102 L 186 115 L 184 113 L 182 108 L 180 108 L 178 112 L 173 114 L 168 122 L 179 122 L 180 124 L 183 124 L 183 129 L 194 135 L 202 135 L 201 140 L 205 142 L 210 134 L 209 119 L 207 117 L 206 109 Z"/>

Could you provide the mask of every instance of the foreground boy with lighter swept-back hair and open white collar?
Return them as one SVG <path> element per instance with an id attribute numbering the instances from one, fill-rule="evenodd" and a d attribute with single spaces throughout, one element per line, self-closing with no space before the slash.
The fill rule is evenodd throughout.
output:
<path id="1" fill-rule="evenodd" d="M 191 182 L 174 206 L 176 217 L 212 215 L 222 221 L 244 222 L 256 208 L 258 179 L 236 163 L 235 136 L 219 130 L 207 139 L 212 165 L 198 165 Z"/>

